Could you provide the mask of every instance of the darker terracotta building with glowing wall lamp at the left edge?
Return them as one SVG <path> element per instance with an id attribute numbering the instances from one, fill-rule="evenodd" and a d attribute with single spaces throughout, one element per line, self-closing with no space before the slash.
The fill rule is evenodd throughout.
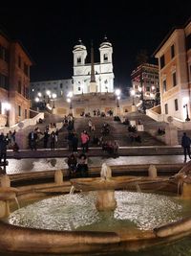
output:
<path id="1" fill-rule="evenodd" d="M 23 45 L 0 31 L 0 127 L 29 118 L 31 65 Z"/>

